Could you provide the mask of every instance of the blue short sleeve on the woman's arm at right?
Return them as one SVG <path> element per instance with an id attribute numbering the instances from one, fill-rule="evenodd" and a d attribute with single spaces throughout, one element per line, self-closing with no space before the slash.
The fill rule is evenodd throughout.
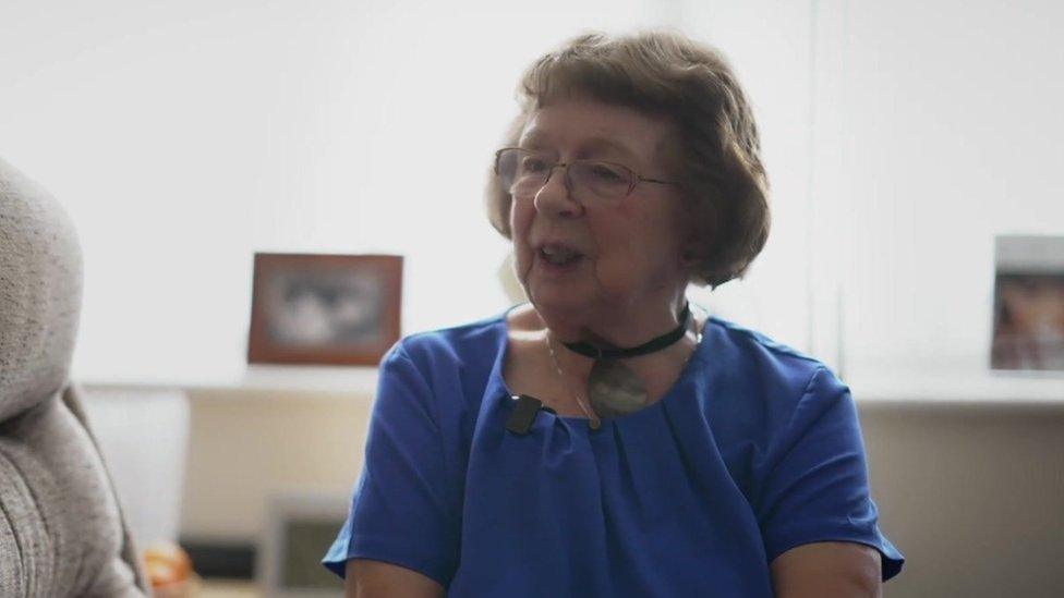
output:
<path id="1" fill-rule="evenodd" d="M 830 370 L 812 375 L 769 454 L 758 518 L 770 562 L 803 544 L 853 541 L 880 551 L 883 581 L 902 570 L 879 530 L 856 405 Z"/>

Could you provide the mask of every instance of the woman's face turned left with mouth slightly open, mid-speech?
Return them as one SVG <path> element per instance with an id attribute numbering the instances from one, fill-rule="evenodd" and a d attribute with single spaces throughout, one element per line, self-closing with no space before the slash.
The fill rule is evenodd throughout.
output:
<path id="1" fill-rule="evenodd" d="M 666 159 L 675 138 L 665 118 L 581 99 L 533 112 L 519 145 L 556 162 L 604 160 L 675 180 Z M 672 308 L 689 278 L 679 190 L 640 182 L 604 200 L 567 188 L 564 174 L 556 169 L 533 196 L 516 196 L 510 211 L 517 276 L 541 314 Z"/>

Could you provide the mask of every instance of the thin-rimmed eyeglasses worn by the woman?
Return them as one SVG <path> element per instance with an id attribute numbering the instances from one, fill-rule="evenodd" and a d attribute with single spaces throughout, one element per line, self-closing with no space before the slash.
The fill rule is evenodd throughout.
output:
<path id="1" fill-rule="evenodd" d="M 547 184 L 555 169 L 565 170 L 566 188 L 583 197 L 590 193 L 602 199 L 619 199 L 629 195 L 639 183 L 678 185 L 675 181 L 649 179 L 630 168 L 601 160 L 556 162 L 546 154 L 523 147 L 504 147 L 495 152 L 495 174 L 510 195 L 533 196 Z"/>

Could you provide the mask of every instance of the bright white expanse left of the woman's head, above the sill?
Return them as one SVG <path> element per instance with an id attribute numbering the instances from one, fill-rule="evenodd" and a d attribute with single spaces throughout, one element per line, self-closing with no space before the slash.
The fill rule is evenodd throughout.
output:
<path id="1" fill-rule="evenodd" d="M 4 0 L 0 151 L 81 233 L 75 376 L 238 377 L 255 251 L 406 255 L 406 331 L 501 310 L 482 188 L 520 72 L 582 29 L 672 17 L 650 0 Z"/>

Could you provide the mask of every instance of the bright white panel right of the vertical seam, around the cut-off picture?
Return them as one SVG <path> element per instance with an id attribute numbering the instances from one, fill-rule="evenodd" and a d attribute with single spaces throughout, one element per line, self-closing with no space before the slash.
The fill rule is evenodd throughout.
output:
<path id="1" fill-rule="evenodd" d="M 1064 234 L 1064 5 L 817 4 L 848 369 L 982 370 L 994 235 Z"/>

